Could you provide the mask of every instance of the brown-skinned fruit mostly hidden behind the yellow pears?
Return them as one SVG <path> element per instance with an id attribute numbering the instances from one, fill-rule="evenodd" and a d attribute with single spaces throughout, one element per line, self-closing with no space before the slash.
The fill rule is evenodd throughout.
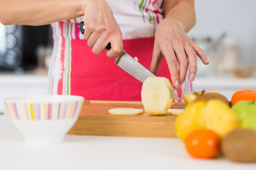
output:
<path id="1" fill-rule="evenodd" d="M 198 94 L 198 96 L 196 96 L 194 101 L 200 101 L 202 98 L 206 101 L 209 101 L 210 99 L 218 99 L 226 103 L 228 106 L 230 106 L 230 101 L 228 101 L 228 98 L 226 98 L 222 94 L 218 94 L 214 92 L 202 93 L 202 94 Z"/>

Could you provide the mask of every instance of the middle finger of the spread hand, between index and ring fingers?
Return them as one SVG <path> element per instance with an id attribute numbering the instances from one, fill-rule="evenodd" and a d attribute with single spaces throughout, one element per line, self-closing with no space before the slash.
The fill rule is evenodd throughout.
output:
<path id="1" fill-rule="evenodd" d="M 178 60 L 179 65 L 179 84 L 183 84 L 186 79 L 186 73 L 188 70 L 188 57 L 186 56 L 184 47 L 182 45 L 174 45 L 174 52 L 176 54 L 176 59 Z"/>

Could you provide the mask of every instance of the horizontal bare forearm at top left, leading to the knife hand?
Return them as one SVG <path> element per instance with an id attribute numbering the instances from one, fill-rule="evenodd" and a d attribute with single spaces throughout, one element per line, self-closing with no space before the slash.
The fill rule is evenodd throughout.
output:
<path id="1" fill-rule="evenodd" d="M 4 25 L 39 26 L 83 15 L 82 0 L 0 0 L 0 21 Z"/>

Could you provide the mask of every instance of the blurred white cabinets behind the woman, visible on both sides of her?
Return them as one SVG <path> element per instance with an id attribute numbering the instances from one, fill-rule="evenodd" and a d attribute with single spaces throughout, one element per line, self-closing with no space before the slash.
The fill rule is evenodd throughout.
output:
<path id="1" fill-rule="evenodd" d="M 230 77 L 197 77 L 193 90 L 219 90 L 229 100 L 235 91 L 252 89 L 256 91 L 256 79 L 235 79 Z M 33 96 L 48 94 L 47 75 L 0 74 L 0 111 L 4 110 L 4 98 L 12 96 Z"/>

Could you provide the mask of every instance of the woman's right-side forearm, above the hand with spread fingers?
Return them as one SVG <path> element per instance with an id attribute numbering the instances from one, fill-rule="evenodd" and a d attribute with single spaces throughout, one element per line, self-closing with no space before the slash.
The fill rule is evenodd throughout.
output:
<path id="1" fill-rule="evenodd" d="M 196 13 L 193 0 L 164 0 L 164 17 L 181 22 L 183 29 L 188 32 L 196 24 Z"/>

